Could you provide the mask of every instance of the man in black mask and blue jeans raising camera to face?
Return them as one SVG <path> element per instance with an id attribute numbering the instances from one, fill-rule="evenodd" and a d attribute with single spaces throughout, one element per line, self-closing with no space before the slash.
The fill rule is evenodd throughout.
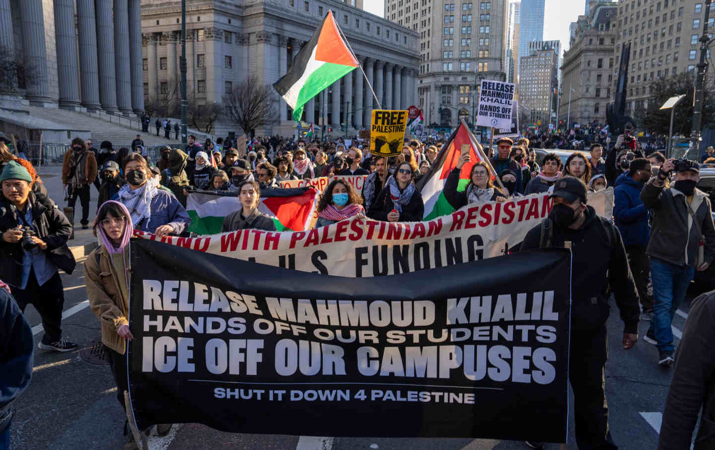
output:
<path id="1" fill-rule="evenodd" d="M 665 181 L 674 172 L 674 183 Z M 654 314 L 646 341 L 658 346 L 661 366 L 673 364 L 671 321 L 695 269 L 704 271 L 715 256 L 715 226 L 707 194 L 695 186 L 700 166 L 687 159 L 669 159 L 658 176 L 651 178 L 641 200 L 651 210 L 651 239 L 646 248 L 651 260 Z M 701 239 L 704 251 L 699 254 Z"/>

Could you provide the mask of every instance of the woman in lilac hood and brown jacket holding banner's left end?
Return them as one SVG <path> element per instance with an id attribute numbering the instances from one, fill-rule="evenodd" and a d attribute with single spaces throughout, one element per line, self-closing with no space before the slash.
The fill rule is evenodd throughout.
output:
<path id="1" fill-rule="evenodd" d="M 127 340 L 129 331 L 129 238 L 134 226 L 132 215 L 119 201 L 105 201 L 99 206 L 92 231 L 102 243 L 84 261 L 84 281 L 92 312 L 102 326 L 102 346 L 117 383 L 117 401 L 124 409 L 127 379 Z M 157 434 L 165 436 L 172 424 L 157 425 Z M 149 427 L 150 429 L 151 427 Z M 125 432 L 127 426 L 124 426 Z M 149 433 L 149 429 L 143 431 Z M 125 433 L 126 434 L 126 433 Z M 131 433 L 124 449 L 137 449 Z"/>

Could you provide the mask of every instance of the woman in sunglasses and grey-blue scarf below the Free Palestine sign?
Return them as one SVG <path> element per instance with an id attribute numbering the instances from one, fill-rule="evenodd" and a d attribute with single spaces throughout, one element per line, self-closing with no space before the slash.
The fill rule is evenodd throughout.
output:
<path id="1" fill-rule="evenodd" d="M 422 221 L 425 204 L 415 189 L 413 171 L 410 164 L 403 162 L 393 176 L 388 178 L 385 189 L 380 191 L 368 216 L 371 219 L 390 222 Z"/>

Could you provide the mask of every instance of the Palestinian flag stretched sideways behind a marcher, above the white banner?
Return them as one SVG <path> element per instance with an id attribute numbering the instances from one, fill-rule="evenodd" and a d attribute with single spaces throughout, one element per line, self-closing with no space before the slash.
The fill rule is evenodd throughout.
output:
<path id="1" fill-rule="evenodd" d="M 312 187 L 265 189 L 258 211 L 273 219 L 277 231 L 303 231 L 310 228 L 317 199 Z M 218 234 L 225 217 L 240 206 L 238 191 L 190 191 L 186 202 L 191 217 L 189 231 Z"/>

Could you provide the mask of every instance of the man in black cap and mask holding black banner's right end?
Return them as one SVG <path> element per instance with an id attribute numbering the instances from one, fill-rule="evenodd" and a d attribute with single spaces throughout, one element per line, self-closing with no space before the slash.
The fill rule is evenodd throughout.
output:
<path id="1" fill-rule="evenodd" d="M 572 244 L 571 346 L 569 380 L 573 388 L 579 449 L 617 449 L 608 431 L 605 386 L 608 284 L 625 323 L 622 346 L 638 341 L 638 292 L 628 267 L 621 234 L 611 221 L 586 205 L 586 184 L 573 176 L 556 181 L 548 219 L 531 229 L 521 250 Z M 532 448 L 541 448 L 537 443 Z"/>

